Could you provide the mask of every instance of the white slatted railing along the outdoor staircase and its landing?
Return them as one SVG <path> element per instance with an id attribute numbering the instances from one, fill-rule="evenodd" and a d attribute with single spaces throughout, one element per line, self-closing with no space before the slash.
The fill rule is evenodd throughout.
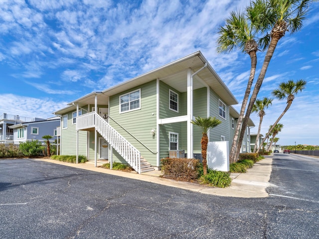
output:
<path id="1" fill-rule="evenodd" d="M 95 112 L 76 118 L 76 130 L 92 128 L 104 137 L 109 144 L 133 167 L 141 173 L 141 152 L 116 131 L 107 121 Z"/>

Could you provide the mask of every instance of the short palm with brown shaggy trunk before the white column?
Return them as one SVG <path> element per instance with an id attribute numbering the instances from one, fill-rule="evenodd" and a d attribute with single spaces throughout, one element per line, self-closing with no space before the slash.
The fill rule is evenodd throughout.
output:
<path id="1" fill-rule="evenodd" d="M 211 116 L 208 118 L 201 118 L 196 117 L 195 120 L 191 120 L 191 122 L 202 129 L 203 136 L 201 137 L 201 155 L 203 158 L 202 164 L 203 164 L 203 173 L 204 175 L 207 174 L 207 144 L 208 144 L 208 136 L 207 132 L 208 129 L 216 127 L 218 124 L 221 123 L 219 119 L 216 119 L 215 117 L 212 118 Z"/>

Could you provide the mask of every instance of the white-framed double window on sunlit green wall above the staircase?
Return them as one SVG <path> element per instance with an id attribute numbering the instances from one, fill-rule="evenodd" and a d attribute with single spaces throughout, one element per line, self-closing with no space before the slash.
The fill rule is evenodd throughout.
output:
<path id="1" fill-rule="evenodd" d="M 120 113 L 141 109 L 141 89 L 120 96 Z"/>

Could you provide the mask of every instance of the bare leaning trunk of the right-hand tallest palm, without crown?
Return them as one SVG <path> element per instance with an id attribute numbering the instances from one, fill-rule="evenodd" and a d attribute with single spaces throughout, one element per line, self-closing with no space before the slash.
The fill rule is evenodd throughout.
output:
<path id="1" fill-rule="evenodd" d="M 246 114 L 245 114 L 245 118 L 243 120 L 243 124 L 242 124 L 242 127 L 241 127 L 240 135 L 239 135 L 239 140 L 238 140 L 238 144 L 237 144 L 238 147 L 237 147 L 237 152 L 236 152 L 236 157 L 235 157 L 236 160 L 239 157 L 240 147 L 241 147 L 241 144 L 243 142 L 243 138 L 244 138 L 244 135 L 245 135 L 245 131 L 246 131 L 246 127 L 247 127 L 247 124 L 248 124 L 248 120 L 249 120 L 251 111 L 252 111 L 253 106 L 255 104 L 255 101 L 257 99 L 258 92 L 259 92 L 260 87 L 261 87 L 261 85 L 263 83 L 263 80 L 265 78 L 265 75 L 266 75 L 266 72 L 267 72 L 267 69 L 268 69 L 268 66 L 269 66 L 269 62 L 270 62 L 272 56 L 274 55 L 274 51 L 276 49 L 276 46 L 277 46 L 277 43 L 278 43 L 279 39 L 280 38 L 276 38 L 276 37 L 271 39 L 270 44 L 269 44 L 269 48 L 267 50 L 267 53 L 266 53 L 266 56 L 265 56 L 265 59 L 264 59 L 263 66 L 262 66 L 261 71 L 259 73 L 257 82 L 255 84 L 255 88 L 254 88 L 253 93 L 252 93 L 252 96 L 250 97 L 249 105 L 248 105 L 248 108 L 247 108 L 247 111 L 246 111 Z"/>

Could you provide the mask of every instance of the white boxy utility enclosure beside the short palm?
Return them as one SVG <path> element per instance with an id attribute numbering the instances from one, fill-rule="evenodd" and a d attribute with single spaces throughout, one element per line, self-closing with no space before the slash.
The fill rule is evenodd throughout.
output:
<path id="1" fill-rule="evenodd" d="M 228 141 L 208 142 L 207 166 L 217 171 L 229 171 Z"/>

